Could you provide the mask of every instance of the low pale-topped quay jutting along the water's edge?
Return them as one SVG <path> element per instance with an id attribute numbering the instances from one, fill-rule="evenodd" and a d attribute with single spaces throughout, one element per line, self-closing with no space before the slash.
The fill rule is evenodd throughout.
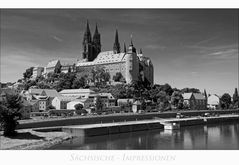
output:
<path id="1" fill-rule="evenodd" d="M 76 126 L 64 126 L 62 131 L 73 136 L 98 136 L 125 132 L 144 131 L 152 129 L 180 129 L 184 126 L 216 124 L 221 122 L 239 121 L 239 115 L 221 115 L 216 117 L 190 117 L 151 119 L 140 121 L 125 121 L 115 123 L 87 124 Z"/>

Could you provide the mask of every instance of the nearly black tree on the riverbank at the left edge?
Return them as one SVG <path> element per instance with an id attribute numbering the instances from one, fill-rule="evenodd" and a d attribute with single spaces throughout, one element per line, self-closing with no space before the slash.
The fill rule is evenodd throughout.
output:
<path id="1" fill-rule="evenodd" d="M 6 95 L 0 102 L 0 124 L 4 136 L 16 135 L 17 119 L 21 117 L 22 101 L 19 95 Z"/>

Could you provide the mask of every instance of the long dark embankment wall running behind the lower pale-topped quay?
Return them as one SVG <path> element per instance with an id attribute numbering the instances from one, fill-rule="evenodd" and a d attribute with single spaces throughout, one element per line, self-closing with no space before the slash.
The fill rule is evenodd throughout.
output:
<path id="1" fill-rule="evenodd" d="M 62 127 L 69 125 L 86 125 L 86 124 L 98 124 L 98 123 L 112 123 L 112 122 L 124 122 L 136 121 L 136 120 L 151 120 L 155 117 L 168 119 L 175 118 L 177 113 L 181 113 L 184 116 L 200 116 L 204 113 L 217 113 L 220 115 L 225 114 L 239 114 L 239 110 L 185 110 L 185 111 L 167 111 L 167 112 L 151 112 L 145 114 L 110 114 L 110 115 L 97 115 L 97 116 L 77 116 L 69 118 L 46 118 L 41 120 L 20 120 L 17 129 L 39 129 L 46 127 Z"/>

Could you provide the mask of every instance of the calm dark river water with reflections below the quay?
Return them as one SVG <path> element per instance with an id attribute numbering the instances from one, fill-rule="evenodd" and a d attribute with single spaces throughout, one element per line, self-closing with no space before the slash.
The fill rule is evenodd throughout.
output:
<path id="1" fill-rule="evenodd" d="M 238 150 L 239 122 L 76 137 L 52 146 L 56 150 Z"/>

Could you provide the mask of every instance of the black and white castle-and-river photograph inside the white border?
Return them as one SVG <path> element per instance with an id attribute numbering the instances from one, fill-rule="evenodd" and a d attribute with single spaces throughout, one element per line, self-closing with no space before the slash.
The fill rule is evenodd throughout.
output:
<path id="1" fill-rule="evenodd" d="M 0 150 L 239 150 L 238 13 L 1 8 Z"/>

